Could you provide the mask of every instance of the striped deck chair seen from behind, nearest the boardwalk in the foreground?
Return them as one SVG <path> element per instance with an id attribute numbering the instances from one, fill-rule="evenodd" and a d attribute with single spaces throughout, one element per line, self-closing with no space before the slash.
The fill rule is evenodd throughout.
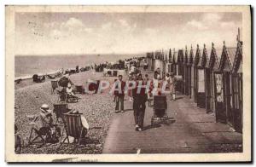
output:
<path id="1" fill-rule="evenodd" d="M 58 150 L 61 148 L 61 146 L 65 143 L 67 140 L 67 146 L 71 144 L 69 142 L 69 136 L 72 136 L 74 138 L 74 141 L 78 141 L 77 146 L 72 151 L 77 150 L 77 148 L 80 145 L 81 140 L 85 139 L 85 135 L 87 134 L 87 125 L 82 123 L 81 120 L 82 113 L 78 114 L 72 114 L 72 113 L 64 113 L 64 124 L 65 124 L 65 130 L 66 130 L 66 137 L 63 141 L 61 141 L 60 147 L 58 147 Z"/>

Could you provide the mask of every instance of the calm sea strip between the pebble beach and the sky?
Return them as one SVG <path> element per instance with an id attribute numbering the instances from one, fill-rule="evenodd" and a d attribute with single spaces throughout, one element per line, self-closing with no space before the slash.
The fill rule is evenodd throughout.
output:
<path id="1" fill-rule="evenodd" d="M 15 55 L 15 78 L 37 73 L 55 72 L 61 68 L 75 68 L 75 66 L 88 66 L 102 62 L 115 62 L 135 55 Z"/>

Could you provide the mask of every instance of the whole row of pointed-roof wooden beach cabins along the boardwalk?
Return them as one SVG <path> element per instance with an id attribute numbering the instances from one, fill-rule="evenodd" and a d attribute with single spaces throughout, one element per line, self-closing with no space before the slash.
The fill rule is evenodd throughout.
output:
<path id="1" fill-rule="evenodd" d="M 222 49 L 197 45 L 183 49 L 147 53 L 149 70 L 160 68 L 162 76 L 173 72 L 179 80 L 177 91 L 188 95 L 197 107 L 215 113 L 216 121 L 242 133 L 242 42 Z"/>

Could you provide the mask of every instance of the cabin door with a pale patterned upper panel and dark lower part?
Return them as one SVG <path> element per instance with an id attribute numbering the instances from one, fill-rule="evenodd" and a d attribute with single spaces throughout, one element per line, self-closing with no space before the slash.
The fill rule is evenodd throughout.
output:
<path id="1" fill-rule="evenodd" d="M 226 123 L 226 110 L 224 105 L 224 78 L 223 73 L 214 73 L 216 121 Z"/>

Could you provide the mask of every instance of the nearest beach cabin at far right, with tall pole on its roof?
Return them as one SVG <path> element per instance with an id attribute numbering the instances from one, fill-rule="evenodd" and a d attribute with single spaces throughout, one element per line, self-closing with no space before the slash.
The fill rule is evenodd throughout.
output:
<path id="1" fill-rule="evenodd" d="M 242 133 L 242 42 L 237 36 L 236 55 L 232 68 L 232 108 L 234 129 Z"/>

